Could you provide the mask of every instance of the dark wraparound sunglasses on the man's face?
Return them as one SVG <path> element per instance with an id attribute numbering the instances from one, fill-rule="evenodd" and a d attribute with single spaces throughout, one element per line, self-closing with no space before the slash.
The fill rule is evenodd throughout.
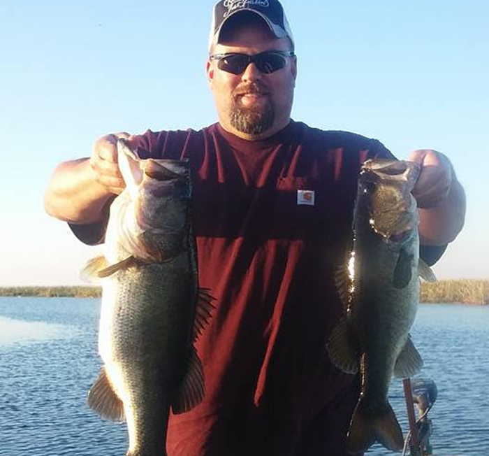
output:
<path id="1" fill-rule="evenodd" d="M 293 57 L 295 54 L 291 50 L 265 50 L 255 55 L 247 54 L 214 54 L 211 60 L 217 60 L 217 68 L 228 73 L 241 74 L 251 63 L 261 73 L 269 74 L 281 70 L 286 66 L 285 57 Z"/>

